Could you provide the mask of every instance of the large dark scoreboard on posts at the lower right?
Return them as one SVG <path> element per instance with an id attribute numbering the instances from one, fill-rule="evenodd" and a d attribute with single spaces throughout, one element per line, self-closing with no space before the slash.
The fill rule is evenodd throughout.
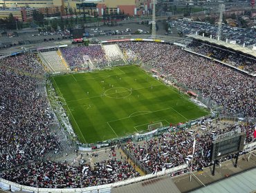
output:
<path id="1" fill-rule="evenodd" d="M 244 139 L 245 134 L 242 132 L 212 141 L 210 159 L 214 161 L 242 151 L 244 149 Z"/>

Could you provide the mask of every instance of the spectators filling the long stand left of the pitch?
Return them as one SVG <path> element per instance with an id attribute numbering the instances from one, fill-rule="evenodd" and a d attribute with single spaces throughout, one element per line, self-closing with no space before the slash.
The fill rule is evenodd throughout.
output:
<path id="1" fill-rule="evenodd" d="M 52 116 L 46 98 L 38 89 L 39 80 L 24 75 L 42 72 L 34 55 L 6 58 L 0 65 L 0 170 L 21 165 L 57 150 L 48 129 Z M 6 66 L 8 65 L 8 66 Z"/>

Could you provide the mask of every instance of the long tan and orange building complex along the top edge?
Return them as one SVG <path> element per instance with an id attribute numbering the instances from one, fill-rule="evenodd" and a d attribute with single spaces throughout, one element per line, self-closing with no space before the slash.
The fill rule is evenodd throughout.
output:
<path id="1" fill-rule="evenodd" d="M 129 16 L 144 14 L 152 8 L 152 0 L 0 0 L 0 8 L 39 8 L 39 12 L 44 14 L 62 15 L 73 13 L 97 14 L 118 14 L 124 12 Z"/>

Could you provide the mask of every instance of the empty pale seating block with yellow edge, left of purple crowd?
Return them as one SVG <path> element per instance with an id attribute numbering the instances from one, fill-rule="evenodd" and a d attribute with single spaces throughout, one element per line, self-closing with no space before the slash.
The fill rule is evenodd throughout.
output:
<path id="1" fill-rule="evenodd" d="M 51 70 L 51 72 L 68 72 L 69 68 L 66 66 L 64 59 L 61 58 L 60 52 L 58 50 L 39 51 L 39 57 L 42 62 Z"/>

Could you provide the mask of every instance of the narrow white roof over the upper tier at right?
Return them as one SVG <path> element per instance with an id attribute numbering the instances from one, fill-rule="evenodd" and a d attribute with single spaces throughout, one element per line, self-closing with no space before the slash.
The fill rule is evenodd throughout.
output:
<path id="1" fill-rule="evenodd" d="M 202 37 L 202 36 L 195 35 L 195 34 L 189 34 L 187 36 L 191 37 L 191 38 L 194 38 L 194 39 L 199 39 L 201 41 L 208 41 L 209 43 L 214 43 L 216 45 L 222 45 L 226 48 L 230 48 L 232 50 L 243 52 L 244 54 L 248 54 L 248 55 L 251 55 L 253 57 L 256 57 L 256 51 L 255 50 L 243 47 L 241 45 L 226 43 L 226 41 L 217 41 L 217 39 L 210 39 L 208 37 Z"/>

